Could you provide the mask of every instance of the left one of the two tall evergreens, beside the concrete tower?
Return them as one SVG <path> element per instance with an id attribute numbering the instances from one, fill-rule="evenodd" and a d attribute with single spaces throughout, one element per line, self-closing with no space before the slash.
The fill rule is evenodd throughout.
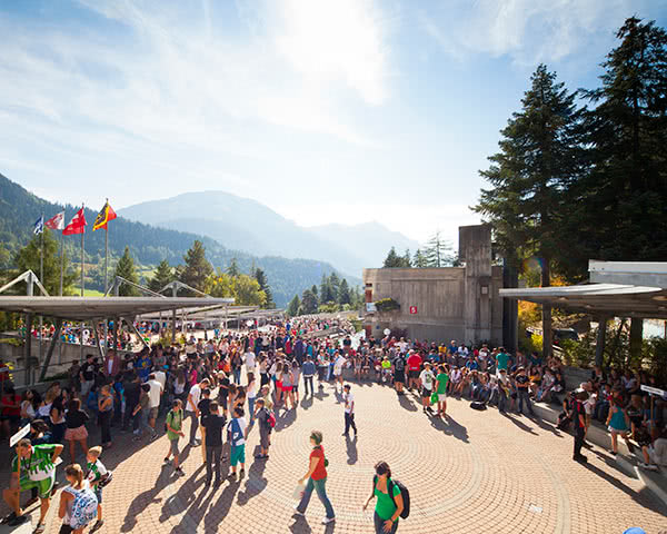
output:
<path id="1" fill-rule="evenodd" d="M 559 259 L 564 191 L 577 178 L 580 152 L 575 93 L 546 66 L 538 66 L 520 112 L 501 131 L 500 151 L 480 175 L 492 185 L 482 189 L 476 211 L 494 225 L 498 244 L 509 256 L 517 249 L 541 260 L 541 285 L 550 286 L 551 264 Z M 569 247 L 568 247 L 569 248 Z M 542 306 L 544 354 L 551 354 L 551 308 Z"/>

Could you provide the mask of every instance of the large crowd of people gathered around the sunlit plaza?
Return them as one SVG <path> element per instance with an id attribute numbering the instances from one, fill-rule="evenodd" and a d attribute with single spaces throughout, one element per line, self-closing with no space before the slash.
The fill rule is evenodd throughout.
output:
<path id="1" fill-rule="evenodd" d="M 334 332 L 339 337 L 329 335 Z M 327 382 L 344 400 L 341 426 L 348 437 L 350 432 L 355 437 L 358 432 L 352 385 L 355 380 L 375 380 L 395 388 L 399 397 L 412 392 L 429 417 L 447 417 L 449 397 L 466 397 L 479 409 L 495 405 L 501 413 L 525 411 L 529 416 L 535 415 L 534 403 L 561 405 L 559 427 L 573 426 L 575 459 L 586 461 L 580 451 L 591 421 L 597 418 L 611 432 L 614 453 L 618 436 L 633 436 L 643 447 L 644 467 L 667 465 L 664 404 L 658 402 L 658 409 L 647 412 L 649 404 L 639 387 L 655 385 L 648 376 L 615 370 L 607 375 L 596 368 L 588 382 L 568 393 L 564 365 L 555 357 L 544 360 L 537 354 L 510 355 L 502 347 L 469 347 L 454 340 L 436 344 L 389 335 L 357 342 L 352 334 L 352 326 L 342 319 L 297 318 L 262 330 L 220 332 L 208 339 L 191 335 L 185 346 L 156 344 L 125 356 L 110 349 L 103 360 L 88 354 L 84 362 L 71 366 L 64 387 L 54 382 L 43 394 L 29 389 L 18 396 L 7 386 L 3 429 L 9 435 L 30 424 L 30 438 L 19 443 L 17 458 L 30 458 L 28 464 L 37 462 L 39 466 L 22 463 L 20 477 L 18 471 L 14 473 L 3 493 L 13 512 L 3 521 L 12 525 L 26 521 L 18 490 L 29 490 L 29 504 L 41 502 L 36 532 L 43 532 L 54 490 L 54 464 L 67 443 L 69 486 L 60 497 L 61 532 L 79 533 L 89 524 L 93 531 L 99 528 L 103 523 L 102 487 L 110 478 L 100 457 L 113 447 L 118 433 L 133 433 L 137 443 L 166 434 L 165 464 L 171 466 L 173 476 L 185 475 L 180 456 L 186 443 L 201 447 L 206 485 L 222 484 L 223 462 L 229 462 L 230 481 L 240 481 L 246 475 L 249 433 L 256 429 L 259 434 L 255 459 L 268 461 L 277 422 L 297 409 L 300 395 L 312 396 Z M 158 424 L 162 417 L 163 425 Z M 101 434 L 96 447 L 88 443 L 92 423 Z M 335 521 L 335 513 L 326 493 L 322 441 L 321 432 L 311 433 L 312 453 L 308 472 L 299 481 L 296 513 L 306 511 L 316 492 L 326 508 L 322 522 L 329 523 Z M 84 458 L 81 463 L 77 463 L 78 448 Z M 376 465 L 368 501 L 374 497 L 376 532 L 396 532 L 398 517 L 405 516 L 409 506 L 404 503 L 407 494 L 391 482 L 385 462 Z M 87 512 L 72 512 L 80 510 Z"/>

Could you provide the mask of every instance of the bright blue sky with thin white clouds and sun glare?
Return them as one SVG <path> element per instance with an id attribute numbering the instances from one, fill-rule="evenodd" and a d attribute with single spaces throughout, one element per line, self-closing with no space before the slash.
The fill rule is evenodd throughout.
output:
<path id="1" fill-rule="evenodd" d="M 537 65 L 596 87 L 633 14 L 667 26 L 667 0 L 0 2 L 0 172 L 93 209 L 219 189 L 455 240 Z"/>

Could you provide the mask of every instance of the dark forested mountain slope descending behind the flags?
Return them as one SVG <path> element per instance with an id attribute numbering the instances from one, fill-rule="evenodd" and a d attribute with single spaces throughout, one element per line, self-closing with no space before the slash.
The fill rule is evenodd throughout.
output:
<path id="1" fill-rule="evenodd" d="M 101 205 L 100 198 L 100 207 Z M 66 210 L 66 221 L 69 221 L 74 214 L 74 207 L 43 200 L 0 174 L 0 267 L 12 267 L 13 255 L 30 240 L 33 224 L 42 214 L 48 218 L 63 209 Z M 188 206 L 182 210 L 183 220 L 187 221 L 189 217 L 200 212 L 200 208 L 195 209 L 193 206 Z M 104 257 L 104 233 L 91 231 L 96 216 L 97 210 L 86 209 L 86 220 L 88 221 L 84 239 L 86 263 L 100 265 Z M 196 218 L 192 217 L 192 220 Z M 186 224 L 182 229 L 190 228 L 192 225 Z M 119 214 L 118 219 L 109 224 L 110 255 L 120 257 L 127 245 L 130 247 L 132 257 L 145 266 L 155 266 L 162 259 L 167 259 L 172 266 L 182 264 L 183 255 L 196 239 L 203 243 L 207 258 L 213 267 L 225 269 L 232 258 L 237 259 L 240 269 L 245 273 L 249 273 L 253 264 L 261 267 L 268 277 L 278 307 L 286 307 L 295 294 L 300 295 L 312 285 L 318 285 L 325 274 L 336 271 L 339 276 L 347 278 L 351 286 L 361 284 L 359 278 L 344 275 L 326 261 L 285 258 L 270 254 L 255 256 L 233 250 L 231 247 L 223 247 L 216 239 L 202 236 L 201 233 L 157 228 L 128 220 L 122 214 Z M 79 236 L 66 236 L 64 244 L 69 257 L 78 258 Z M 78 268 L 78 265 L 74 264 L 73 267 Z M 87 274 L 89 275 L 89 273 Z M 87 287 L 94 287 L 94 279 L 89 279 L 86 284 Z"/>

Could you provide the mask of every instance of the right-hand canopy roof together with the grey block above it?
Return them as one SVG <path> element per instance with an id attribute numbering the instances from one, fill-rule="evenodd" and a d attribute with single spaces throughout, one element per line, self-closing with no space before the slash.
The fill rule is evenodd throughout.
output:
<path id="1" fill-rule="evenodd" d="M 667 319 L 667 263 L 591 260 L 588 270 L 601 284 L 500 289 L 500 296 L 601 317 Z"/>

